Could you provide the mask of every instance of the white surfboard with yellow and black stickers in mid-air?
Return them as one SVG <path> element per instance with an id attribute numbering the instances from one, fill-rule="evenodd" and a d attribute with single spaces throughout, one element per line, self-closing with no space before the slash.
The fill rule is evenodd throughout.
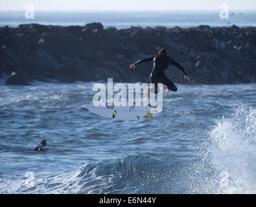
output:
<path id="1" fill-rule="evenodd" d="M 128 104 L 125 106 L 115 106 L 113 103 L 106 103 L 106 106 L 95 106 L 93 103 L 90 103 L 85 106 L 92 113 L 115 120 L 151 119 L 160 114 L 156 107 L 145 106 L 143 103 L 140 106 L 135 105 L 135 103 L 132 106 Z"/>

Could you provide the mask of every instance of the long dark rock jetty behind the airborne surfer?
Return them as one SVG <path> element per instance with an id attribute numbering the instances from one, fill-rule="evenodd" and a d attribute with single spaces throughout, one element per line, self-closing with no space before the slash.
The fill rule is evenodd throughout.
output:
<path id="1" fill-rule="evenodd" d="M 192 83 L 249 83 L 256 81 L 256 28 L 209 27 L 104 29 L 101 23 L 85 27 L 19 25 L 0 28 L 0 74 L 8 83 L 30 79 L 73 83 L 113 77 L 116 82 L 148 82 L 152 63 L 135 71 L 129 65 L 154 56 L 165 47 L 191 76 Z M 179 69 L 167 75 L 185 83 Z"/>

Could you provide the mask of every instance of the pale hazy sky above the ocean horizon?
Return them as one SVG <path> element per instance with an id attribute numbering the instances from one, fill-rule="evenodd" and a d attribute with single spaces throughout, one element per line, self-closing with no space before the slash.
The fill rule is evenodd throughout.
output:
<path id="1" fill-rule="evenodd" d="M 0 10 L 256 10 L 256 0 L 0 0 Z"/>

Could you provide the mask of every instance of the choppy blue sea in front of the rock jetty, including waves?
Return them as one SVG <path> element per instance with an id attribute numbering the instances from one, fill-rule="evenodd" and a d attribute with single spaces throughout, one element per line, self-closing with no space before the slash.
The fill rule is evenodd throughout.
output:
<path id="1" fill-rule="evenodd" d="M 0 85 L 0 193 L 256 193 L 255 83 L 178 84 L 135 121 L 89 112 L 93 84 Z"/>

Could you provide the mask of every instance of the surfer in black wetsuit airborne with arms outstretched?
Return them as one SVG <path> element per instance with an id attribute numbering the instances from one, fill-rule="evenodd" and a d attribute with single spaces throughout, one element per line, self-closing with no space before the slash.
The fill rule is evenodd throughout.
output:
<path id="1" fill-rule="evenodd" d="M 167 50 L 161 49 L 158 52 L 158 56 L 153 56 L 150 58 L 145 58 L 143 60 L 139 60 L 136 63 L 130 65 L 130 69 L 134 69 L 136 65 L 143 63 L 143 62 L 148 62 L 148 61 L 154 61 L 154 67 L 152 69 L 152 72 L 150 74 L 150 82 L 155 83 L 155 93 L 157 94 L 159 92 L 157 83 L 163 83 L 163 85 L 166 85 L 167 87 L 163 87 L 165 90 L 165 93 L 168 94 L 169 91 L 177 91 L 176 85 L 169 79 L 167 76 L 165 76 L 165 70 L 169 67 L 169 65 L 174 65 L 181 69 L 181 71 L 184 73 L 184 78 L 189 80 L 189 76 L 187 76 L 187 72 L 183 67 L 174 61 L 172 58 L 167 56 Z M 148 97 L 149 97 L 149 90 L 147 92 Z"/>

